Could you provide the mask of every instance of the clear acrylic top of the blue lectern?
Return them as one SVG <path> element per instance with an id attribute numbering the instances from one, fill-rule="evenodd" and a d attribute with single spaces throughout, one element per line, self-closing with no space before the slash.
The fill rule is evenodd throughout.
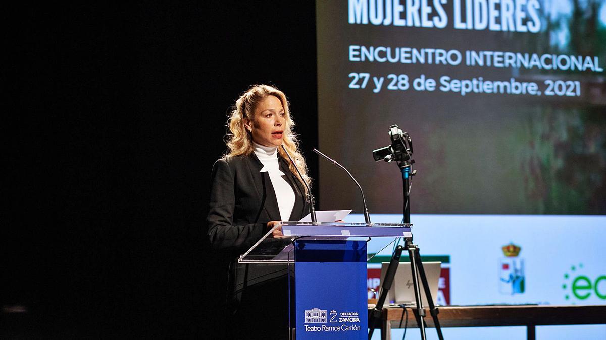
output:
<path id="1" fill-rule="evenodd" d="M 274 229 L 282 227 L 283 237 L 271 237 Z M 348 241 L 373 243 L 383 249 L 397 238 L 412 237 L 410 223 L 349 223 L 287 221 L 273 227 L 264 237 L 238 259 L 240 263 L 288 263 L 293 261 L 296 240 Z"/>

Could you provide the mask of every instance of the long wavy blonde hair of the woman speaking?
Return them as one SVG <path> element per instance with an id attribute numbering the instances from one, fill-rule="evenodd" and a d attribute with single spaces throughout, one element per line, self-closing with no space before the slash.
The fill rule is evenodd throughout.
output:
<path id="1" fill-rule="evenodd" d="M 253 85 L 248 91 L 242 94 L 241 97 L 236 100 L 231 111 L 230 118 L 227 120 L 230 134 L 227 136 L 227 147 L 229 152 L 227 156 L 235 155 L 250 155 L 253 152 L 253 138 L 250 132 L 245 128 L 244 119 L 247 118 L 251 122 L 255 120 L 255 109 L 259 102 L 267 98 L 268 96 L 275 96 L 281 102 L 284 107 L 285 113 L 285 127 L 284 127 L 284 142 L 282 145 L 288 150 L 288 153 L 293 157 L 296 166 L 301 171 L 303 178 L 301 178 L 296 171 L 295 165 L 288 160 L 288 156 L 285 154 L 282 148 L 278 148 L 280 157 L 288 162 L 290 171 L 301 181 L 311 186 L 311 178 L 307 176 L 307 165 L 305 165 L 305 159 L 299 151 L 299 140 L 293 132 L 293 126 L 295 122 L 290 117 L 290 105 L 286 99 L 284 92 L 278 90 L 278 88 L 270 85 Z"/>

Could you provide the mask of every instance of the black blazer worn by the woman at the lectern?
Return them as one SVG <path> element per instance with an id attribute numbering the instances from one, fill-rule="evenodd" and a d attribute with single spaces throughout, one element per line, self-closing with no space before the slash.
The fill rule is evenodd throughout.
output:
<path id="1" fill-rule="evenodd" d="M 305 189 L 278 156 L 279 169 L 295 192 L 290 221 L 308 212 Z M 276 194 L 261 161 L 250 155 L 227 156 L 213 165 L 208 211 L 208 238 L 215 249 L 245 252 L 267 232 L 268 221 L 281 220 Z"/>

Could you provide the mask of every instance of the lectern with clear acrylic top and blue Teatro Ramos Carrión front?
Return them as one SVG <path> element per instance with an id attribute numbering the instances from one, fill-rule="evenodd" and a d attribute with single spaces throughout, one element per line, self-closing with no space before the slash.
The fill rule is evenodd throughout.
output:
<path id="1" fill-rule="evenodd" d="M 289 275 L 290 339 L 367 339 L 367 243 L 383 249 L 412 237 L 412 224 L 284 222 L 271 229 L 239 263 L 282 264 Z M 261 270 L 264 280 L 276 270 Z"/>

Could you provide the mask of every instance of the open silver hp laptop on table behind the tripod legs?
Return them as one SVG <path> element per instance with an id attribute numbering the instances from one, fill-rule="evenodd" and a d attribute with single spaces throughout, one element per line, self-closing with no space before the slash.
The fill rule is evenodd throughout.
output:
<path id="1" fill-rule="evenodd" d="M 427 276 L 427 284 L 429 285 L 429 291 L 431 298 L 435 305 L 438 304 L 438 283 L 440 280 L 441 262 L 424 262 L 423 269 L 425 269 L 425 276 Z M 381 264 L 381 287 L 385 273 L 387 273 L 387 267 L 389 263 L 384 262 Z M 418 270 L 417 270 L 418 271 Z M 413 287 L 412 270 L 410 269 L 410 263 L 399 263 L 398 270 L 396 270 L 396 276 L 393 278 L 391 289 L 387 294 L 385 302 L 405 305 L 416 305 L 415 299 L 415 287 Z M 425 290 L 421 283 L 421 275 L 418 275 L 419 287 L 421 289 L 421 297 L 423 306 L 428 307 L 427 296 L 425 296 Z M 379 292 L 381 296 L 381 292 Z"/>

